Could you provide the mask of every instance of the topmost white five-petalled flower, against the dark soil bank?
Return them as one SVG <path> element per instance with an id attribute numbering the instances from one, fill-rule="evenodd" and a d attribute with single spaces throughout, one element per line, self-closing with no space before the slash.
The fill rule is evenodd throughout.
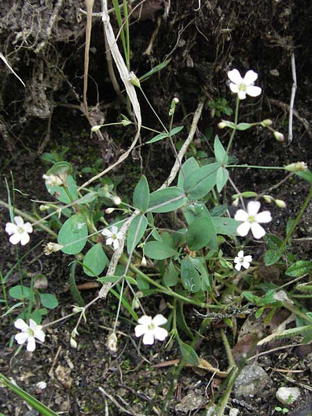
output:
<path id="1" fill-rule="evenodd" d="M 227 73 L 229 80 L 229 88 L 234 94 L 238 94 L 240 100 L 246 98 L 246 94 L 257 97 L 261 94 L 260 87 L 254 87 L 254 81 L 257 80 L 258 74 L 250 69 L 247 71 L 244 78 L 241 78 L 241 74 L 238 69 L 232 69 Z"/>

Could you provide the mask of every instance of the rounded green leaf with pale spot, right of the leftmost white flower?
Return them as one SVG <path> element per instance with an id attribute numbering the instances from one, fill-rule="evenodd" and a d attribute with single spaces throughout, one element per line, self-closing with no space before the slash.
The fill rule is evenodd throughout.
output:
<path id="1" fill-rule="evenodd" d="M 64 245 L 62 252 L 65 254 L 78 254 L 87 242 L 88 229 L 85 218 L 81 214 L 75 214 L 64 222 L 58 233 L 58 243 Z"/>

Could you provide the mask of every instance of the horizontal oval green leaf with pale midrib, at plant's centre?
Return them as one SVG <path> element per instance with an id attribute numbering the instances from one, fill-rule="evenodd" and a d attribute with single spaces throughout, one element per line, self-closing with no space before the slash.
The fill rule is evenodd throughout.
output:
<path id="1" fill-rule="evenodd" d="M 168 202 L 174 198 L 177 198 L 177 200 Z M 159 191 L 155 191 L 150 194 L 150 203 L 148 205 L 148 211 L 158 213 L 175 211 L 175 209 L 182 207 L 186 200 L 187 198 L 185 198 L 184 191 L 182 188 L 169 187 L 165 189 L 159 189 Z M 162 206 L 157 207 L 158 205 Z"/>

